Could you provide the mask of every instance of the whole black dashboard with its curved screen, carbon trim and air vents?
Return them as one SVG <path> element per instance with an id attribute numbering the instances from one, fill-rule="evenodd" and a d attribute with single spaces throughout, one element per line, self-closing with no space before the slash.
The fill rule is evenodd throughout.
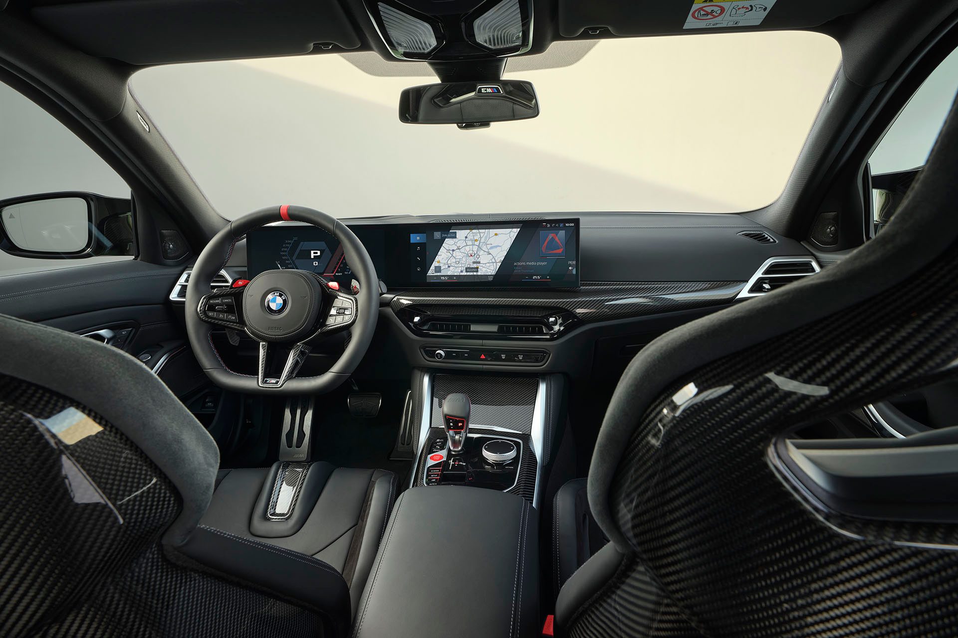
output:
<path id="1" fill-rule="evenodd" d="M 403 376 L 397 366 L 402 361 L 614 382 L 658 335 L 739 302 L 765 269 L 784 268 L 775 275 L 784 281 L 802 275 L 791 262 L 815 258 L 801 243 L 735 213 L 397 215 L 344 221 L 385 284 L 376 357 L 368 358 L 362 373 L 384 379 Z M 553 232 L 561 249 L 550 239 Z M 487 253 L 472 253 L 469 262 L 467 250 L 462 259 L 469 243 Z M 280 222 L 240 239 L 223 274 L 227 280 L 249 279 L 267 270 L 302 268 L 349 290 L 348 256 L 328 233 Z M 218 339 L 224 352 L 233 351 L 226 335 Z M 255 370 L 255 355 L 238 351 L 235 369 Z M 313 353 L 313 359 L 323 356 Z M 317 370 L 322 368 L 317 363 Z"/>

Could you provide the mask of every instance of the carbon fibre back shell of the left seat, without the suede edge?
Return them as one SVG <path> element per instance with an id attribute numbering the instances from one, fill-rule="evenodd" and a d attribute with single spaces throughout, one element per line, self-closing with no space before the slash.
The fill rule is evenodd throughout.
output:
<path id="1" fill-rule="evenodd" d="M 0 375 L 0 634 L 322 635 L 320 617 L 170 561 L 180 498 L 100 415 Z"/>

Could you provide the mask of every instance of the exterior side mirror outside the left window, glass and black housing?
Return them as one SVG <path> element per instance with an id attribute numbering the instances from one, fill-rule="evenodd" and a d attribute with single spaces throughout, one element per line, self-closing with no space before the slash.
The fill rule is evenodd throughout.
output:
<path id="1" fill-rule="evenodd" d="M 135 253 L 130 200 L 57 192 L 0 201 L 0 250 L 21 257 L 82 259 Z"/>

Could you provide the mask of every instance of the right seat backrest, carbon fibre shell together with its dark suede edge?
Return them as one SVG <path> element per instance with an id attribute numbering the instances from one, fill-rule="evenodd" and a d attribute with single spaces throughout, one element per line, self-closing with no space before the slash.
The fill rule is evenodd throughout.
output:
<path id="1" fill-rule="evenodd" d="M 958 375 L 955 175 L 953 107 L 877 238 L 673 331 L 629 365 L 588 482 L 624 560 L 569 634 L 954 635 L 958 525 L 823 507 L 789 480 L 773 444 Z"/>

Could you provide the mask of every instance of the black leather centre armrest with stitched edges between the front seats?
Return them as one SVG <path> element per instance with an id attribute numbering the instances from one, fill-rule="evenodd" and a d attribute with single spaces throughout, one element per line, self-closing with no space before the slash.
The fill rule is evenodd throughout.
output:
<path id="1" fill-rule="evenodd" d="M 407 490 L 379 543 L 354 636 L 539 635 L 537 517 L 504 492 Z"/>

